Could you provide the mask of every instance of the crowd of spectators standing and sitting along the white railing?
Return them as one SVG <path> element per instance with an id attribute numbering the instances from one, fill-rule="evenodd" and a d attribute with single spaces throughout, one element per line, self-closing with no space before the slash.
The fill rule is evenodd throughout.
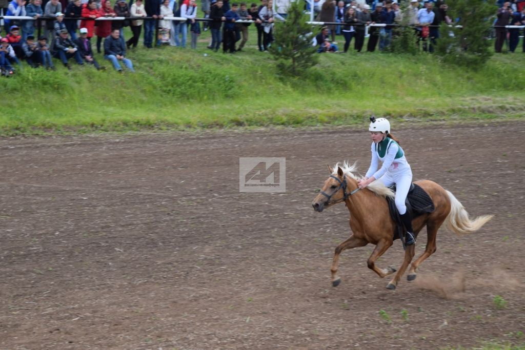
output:
<path id="1" fill-rule="evenodd" d="M 0 0 L 0 6 L 2 2 Z M 114 0 L 113 0 L 114 1 Z M 67 68 L 70 60 L 78 65 L 92 65 L 103 70 L 96 60 L 93 44 L 98 54 L 102 53 L 112 66 L 122 72 L 123 67 L 133 72 L 133 63 L 127 58 L 127 51 L 136 48 L 143 28 L 143 45 L 152 48 L 157 45 L 171 45 L 186 48 L 188 33 L 192 49 L 197 47 L 201 30 L 209 30 L 211 38 L 208 49 L 223 52 L 242 51 L 248 41 L 249 26 L 254 24 L 257 32 L 257 47 L 268 51 L 273 39 L 276 20 L 286 20 L 291 0 L 259 0 L 260 4 L 230 3 L 230 0 L 201 0 L 202 22 L 197 18 L 195 0 L 11 0 L 4 9 L 4 31 L 0 30 L 0 68 L 4 75 L 12 75 L 16 68 L 22 69 L 22 61 L 30 67 L 43 66 L 55 69 L 53 58 Z M 274 4 L 275 1 L 275 4 Z M 398 0 L 312 0 L 316 19 L 328 23 L 314 38 L 313 45 L 318 52 L 340 52 L 336 41 L 342 35 L 342 52 L 348 52 L 352 40 L 354 50 L 361 52 L 365 42 L 365 26 L 369 27 L 366 51 L 386 50 L 395 35 L 393 27 L 404 23 L 413 26 L 418 43 L 423 49 L 433 51 L 439 38 L 442 22 L 453 24 L 447 15 L 445 0 L 426 1 L 403 0 L 408 9 L 402 12 Z M 495 19 L 495 51 L 501 52 L 507 42 L 514 52 L 520 39 L 519 28 L 505 28 L 507 25 L 525 25 L 525 0 L 501 2 L 498 0 Z M 4 4 L 5 5 L 5 4 Z M 180 6 L 179 6 L 180 5 Z M 305 10 L 309 11 L 310 2 Z M 16 19 L 16 17 L 24 17 Z M 27 19 L 31 17 L 31 19 Z M 172 18 L 185 20 L 173 20 Z M 110 20 L 114 18 L 114 20 Z M 42 23 L 44 33 L 35 37 L 37 24 Z M 124 39 L 124 27 L 130 27 L 132 36 Z M 1 29 L 1 28 L 0 28 Z M 154 34 L 158 30 L 158 35 Z M 39 30 L 40 31 L 40 30 Z M 4 34 L 4 36 L 2 36 Z M 155 41 L 154 41 L 155 40 Z M 237 46 L 237 43 L 240 43 Z M 428 45 L 427 45 L 428 44 Z M 523 40 L 525 52 L 525 39 Z M 16 67 L 16 68 L 15 68 Z"/>

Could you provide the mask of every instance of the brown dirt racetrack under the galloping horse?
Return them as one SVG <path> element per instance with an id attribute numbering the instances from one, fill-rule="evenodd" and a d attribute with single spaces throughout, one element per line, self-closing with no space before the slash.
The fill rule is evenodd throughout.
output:
<path id="1" fill-rule="evenodd" d="M 363 128 L 365 129 L 365 128 Z M 0 140 L 0 349 L 438 349 L 525 342 L 525 122 L 395 130 L 414 179 L 450 190 L 472 235 L 438 233 L 385 289 L 326 164 L 370 162 L 366 131 Z M 286 157 L 286 193 L 239 193 L 239 157 Z M 426 241 L 419 236 L 416 256 Z M 400 241 L 379 261 L 401 264 Z"/>

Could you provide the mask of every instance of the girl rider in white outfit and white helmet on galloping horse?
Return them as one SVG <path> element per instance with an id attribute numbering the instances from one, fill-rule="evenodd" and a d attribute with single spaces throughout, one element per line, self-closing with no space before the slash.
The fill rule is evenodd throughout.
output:
<path id="1" fill-rule="evenodd" d="M 372 162 L 364 179 L 358 182 L 360 188 L 365 188 L 376 179 L 380 179 L 385 186 L 396 185 L 395 206 L 399 211 L 401 221 L 406 229 L 405 245 L 415 243 L 412 230 L 412 217 L 406 210 L 405 199 L 412 184 L 412 169 L 406 161 L 405 152 L 399 142 L 390 134 L 390 122 L 385 118 L 375 119 L 369 126 L 372 135 Z M 383 165 L 377 170 L 377 160 Z"/>

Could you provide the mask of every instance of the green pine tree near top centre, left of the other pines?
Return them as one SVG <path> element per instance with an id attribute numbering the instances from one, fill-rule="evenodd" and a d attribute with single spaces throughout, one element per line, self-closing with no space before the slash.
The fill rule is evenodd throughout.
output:
<path id="1" fill-rule="evenodd" d="M 303 6 L 303 1 L 292 1 L 286 22 L 275 24 L 275 41 L 269 50 L 285 76 L 298 77 L 319 62 L 317 48 L 312 46 L 312 26 L 306 23 L 309 18 L 303 14 Z"/>

